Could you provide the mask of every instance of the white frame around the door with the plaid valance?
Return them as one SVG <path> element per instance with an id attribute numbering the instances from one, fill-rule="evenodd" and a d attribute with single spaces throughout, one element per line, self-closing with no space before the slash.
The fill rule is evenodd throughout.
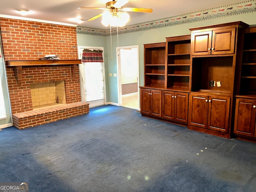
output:
<path id="1" fill-rule="evenodd" d="M 104 62 L 104 48 L 103 47 L 90 47 L 90 46 L 78 46 L 78 58 L 82 60 L 80 56 L 80 49 L 101 49 L 103 50 L 103 83 L 104 83 L 104 105 L 106 105 L 106 78 L 105 78 L 105 62 Z M 81 61 L 82 62 L 82 61 Z M 84 92 L 84 81 L 83 81 L 83 70 L 82 65 L 79 65 L 79 77 L 80 77 L 80 90 L 82 102 L 85 102 L 85 92 Z M 90 105 L 89 105 L 90 106 Z"/>

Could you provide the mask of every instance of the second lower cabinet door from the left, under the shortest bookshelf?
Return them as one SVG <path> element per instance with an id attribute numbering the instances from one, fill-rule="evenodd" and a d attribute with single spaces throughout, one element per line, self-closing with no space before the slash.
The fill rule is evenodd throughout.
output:
<path id="1" fill-rule="evenodd" d="M 161 117 L 162 114 L 162 91 L 150 90 L 151 115 Z"/>

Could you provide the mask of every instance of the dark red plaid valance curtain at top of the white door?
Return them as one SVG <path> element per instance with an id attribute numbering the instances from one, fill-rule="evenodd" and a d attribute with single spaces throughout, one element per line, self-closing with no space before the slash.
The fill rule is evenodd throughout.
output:
<path id="1" fill-rule="evenodd" d="M 82 62 L 103 62 L 103 50 L 84 49 L 82 54 Z"/>

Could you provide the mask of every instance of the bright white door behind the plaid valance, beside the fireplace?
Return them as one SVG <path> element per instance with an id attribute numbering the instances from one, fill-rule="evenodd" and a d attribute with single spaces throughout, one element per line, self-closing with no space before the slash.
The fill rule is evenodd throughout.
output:
<path id="1" fill-rule="evenodd" d="M 82 59 L 84 48 L 96 50 L 98 47 L 78 47 L 79 59 Z M 104 58 L 103 58 L 104 60 Z M 82 101 L 88 102 L 89 107 L 95 107 L 105 104 L 105 72 L 104 62 L 82 62 L 79 65 L 80 84 Z"/>

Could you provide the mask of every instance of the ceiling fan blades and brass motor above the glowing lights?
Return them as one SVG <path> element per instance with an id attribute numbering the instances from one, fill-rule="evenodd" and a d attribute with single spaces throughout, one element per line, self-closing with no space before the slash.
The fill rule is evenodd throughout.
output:
<path id="1" fill-rule="evenodd" d="M 101 10 L 109 10 L 112 16 L 116 16 L 118 14 L 118 11 L 130 11 L 130 12 L 144 12 L 144 13 L 151 13 L 153 10 L 150 8 L 122 8 L 125 4 L 127 4 L 129 1 L 128 0 L 118 0 L 118 1 L 110 1 L 106 3 L 106 8 L 99 8 L 99 7 L 78 7 L 78 9 L 101 9 Z M 104 14 L 100 13 L 90 19 L 88 21 L 95 20 L 102 16 Z"/>

